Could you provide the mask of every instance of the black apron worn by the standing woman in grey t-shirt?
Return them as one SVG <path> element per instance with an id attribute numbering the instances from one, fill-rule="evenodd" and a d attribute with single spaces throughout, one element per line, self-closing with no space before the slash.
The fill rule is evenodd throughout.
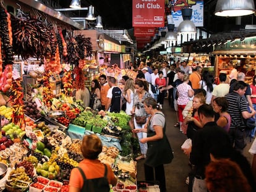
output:
<path id="1" fill-rule="evenodd" d="M 147 129 L 147 137 L 156 135 L 155 131 L 150 130 L 150 123 Z M 171 149 L 171 145 L 169 144 L 168 138 L 165 134 L 165 130 L 166 122 L 164 123 L 163 128 L 163 138 L 161 138 L 161 140 L 148 142 L 148 150 L 145 159 L 145 164 L 150 167 L 157 167 L 158 165 L 169 164 L 173 160 L 173 150 Z"/>

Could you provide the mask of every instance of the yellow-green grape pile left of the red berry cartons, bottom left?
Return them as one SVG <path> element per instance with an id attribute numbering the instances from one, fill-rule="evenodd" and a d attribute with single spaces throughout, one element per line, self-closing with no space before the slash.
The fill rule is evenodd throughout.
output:
<path id="1" fill-rule="evenodd" d="M 8 177 L 9 185 L 11 186 L 28 186 L 32 180 L 28 177 L 23 167 L 17 167 L 10 172 Z"/>

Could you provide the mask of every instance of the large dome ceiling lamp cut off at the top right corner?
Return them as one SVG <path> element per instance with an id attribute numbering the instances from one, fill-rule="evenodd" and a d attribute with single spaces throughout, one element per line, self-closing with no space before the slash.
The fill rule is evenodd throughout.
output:
<path id="1" fill-rule="evenodd" d="M 254 12 L 254 0 L 218 0 L 215 8 L 215 15 L 221 17 L 238 17 Z"/>

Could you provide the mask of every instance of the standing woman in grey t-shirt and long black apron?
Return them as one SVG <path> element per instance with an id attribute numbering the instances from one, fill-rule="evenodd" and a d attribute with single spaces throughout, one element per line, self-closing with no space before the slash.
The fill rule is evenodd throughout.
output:
<path id="1" fill-rule="evenodd" d="M 160 182 L 160 191 L 166 191 L 164 165 L 173 160 L 173 151 L 166 137 L 166 122 L 163 112 L 159 111 L 155 99 L 143 100 L 143 106 L 150 120 L 146 128 L 135 129 L 135 133 L 147 132 L 147 137 L 140 139 L 140 143 L 148 144 L 147 156 L 144 162 L 145 180 Z M 155 172 L 155 174 L 154 174 Z"/>

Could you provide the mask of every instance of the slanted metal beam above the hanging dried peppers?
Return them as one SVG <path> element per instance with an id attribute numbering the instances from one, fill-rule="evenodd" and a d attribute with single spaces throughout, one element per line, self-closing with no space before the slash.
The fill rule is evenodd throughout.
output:
<path id="1" fill-rule="evenodd" d="M 83 26 L 80 25 L 79 23 L 74 22 L 74 20 L 61 14 L 61 12 L 58 12 L 54 9 L 51 9 L 51 8 L 45 6 L 44 4 L 41 4 L 41 2 L 34 1 L 34 0 L 18 0 L 18 1 L 23 2 L 23 4 L 27 4 L 28 6 L 33 7 L 36 10 L 40 10 L 41 12 L 44 12 L 45 14 L 48 14 L 51 17 L 61 20 L 62 22 L 72 25 L 75 28 L 78 28 L 80 30 L 83 29 Z"/>

